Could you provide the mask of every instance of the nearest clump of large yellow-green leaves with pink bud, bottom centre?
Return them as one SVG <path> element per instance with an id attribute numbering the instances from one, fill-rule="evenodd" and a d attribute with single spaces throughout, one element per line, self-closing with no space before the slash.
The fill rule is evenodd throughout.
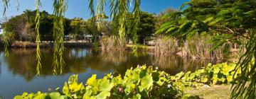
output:
<path id="1" fill-rule="evenodd" d="M 23 93 L 19 98 L 181 98 L 183 92 L 176 89 L 168 78 L 169 74 L 157 71 L 151 66 L 138 66 L 128 69 L 122 77 L 106 74 L 87 79 L 86 84 L 78 83 L 78 75 L 70 76 L 60 92 Z M 60 88 L 58 88 L 59 90 Z M 184 96 L 187 97 L 187 96 Z"/>

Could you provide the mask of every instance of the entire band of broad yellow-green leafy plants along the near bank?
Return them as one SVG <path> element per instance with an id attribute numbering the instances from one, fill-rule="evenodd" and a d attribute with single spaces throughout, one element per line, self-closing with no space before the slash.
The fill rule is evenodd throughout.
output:
<path id="1" fill-rule="evenodd" d="M 250 66 L 255 60 L 250 62 Z M 196 98 L 183 93 L 184 88 L 200 88 L 206 85 L 223 83 L 238 83 L 241 69 L 235 71 L 235 63 L 208 64 L 205 69 L 188 71 L 170 76 L 164 71 L 158 71 L 151 66 L 137 66 L 128 69 L 124 76 L 120 74 L 105 74 L 97 79 L 92 75 L 86 84 L 78 83 L 78 75 L 70 76 L 63 88 L 51 93 L 23 93 L 19 98 Z M 62 91 L 60 91 L 62 89 Z"/>

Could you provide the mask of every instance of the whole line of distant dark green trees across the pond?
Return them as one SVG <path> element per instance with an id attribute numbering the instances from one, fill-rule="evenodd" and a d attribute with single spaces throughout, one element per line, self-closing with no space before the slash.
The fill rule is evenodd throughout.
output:
<path id="1" fill-rule="evenodd" d="M 54 15 L 46 11 L 40 12 L 40 28 L 39 33 L 41 40 L 52 40 L 53 35 L 53 20 Z M 36 11 L 26 10 L 23 11 L 21 15 L 11 17 L 8 21 L 3 23 L 6 31 L 11 34 L 9 36 L 10 40 L 21 40 L 21 41 L 35 41 L 35 27 L 36 27 Z M 108 18 L 105 16 L 105 18 Z M 156 28 L 156 17 L 152 13 L 141 11 L 140 13 L 140 23 L 138 29 L 138 40 L 139 44 L 146 44 L 147 41 L 151 40 L 154 35 Z M 127 13 L 127 27 L 132 26 L 132 21 L 134 21 L 134 16 L 132 13 Z M 114 25 L 115 22 L 104 21 L 101 28 L 96 30 L 99 36 L 102 35 L 115 35 L 118 34 L 114 31 L 117 26 Z M 77 35 L 93 35 L 93 25 L 92 18 L 84 20 L 82 18 L 65 18 L 65 35 L 77 36 Z M 132 30 L 127 28 L 127 40 L 132 39 Z"/>

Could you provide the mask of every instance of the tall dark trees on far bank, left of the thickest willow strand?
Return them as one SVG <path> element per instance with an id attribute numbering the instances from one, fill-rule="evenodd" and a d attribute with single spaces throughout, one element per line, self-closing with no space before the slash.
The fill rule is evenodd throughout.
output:
<path id="1" fill-rule="evenodd" d="M 21 15 L 14 16 L 6 21 L 6 23 L 4 23 L 4 28 L 6 28 L 5 30 L 9 33 L 14 33 L 14 40 L 35 41 L 36 24 L 40 19 L 40 23 L 38 24 L 40 28 L 38 28 L 38 31 L 41 35 L 41 40 L 43 40 L 44 35 L 53 34 L 53 15 L 50 15 L 46 11 L 38 13 L 40 14 L 37 14 L 37 11 L 23 11 Z M 38 15 L 40 16 L 39 18 L 37 18 Z M 38 19 L 37 21 L 35 21 L 36 18 Z"/>

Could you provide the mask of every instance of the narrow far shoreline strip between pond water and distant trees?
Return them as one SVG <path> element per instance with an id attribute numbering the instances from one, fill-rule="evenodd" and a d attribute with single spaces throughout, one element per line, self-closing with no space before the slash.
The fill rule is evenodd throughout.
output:
<path id="1" fill-rule="evenodd" d="M 40 42 L 40 47 L 41 48 L 53 48 L 54 44 L 53 42 Z M 95 48 L 92 44 L 92 42 L 73 42 L 73 41 L 66 41 L 64 42 L 64 46 L 67 48 Z M 127 44 L 125 47 L 125 51 L 129 51 L 132 52 L 132 47 L 134 47 L 135 45 L 131 45 L 131 44 Z M 0 42 L 0 47 L 4 48 L 4 44 L 3 42 Z M 35 42 L 22 42 L 22 41 L 15 41 L 13 42 L 11 45 L 9 45 L 9 48 L 13 48 L 13 49 L 20 49 L 20 48 L 36 48 L 36 43 Z M 150 53 L 154 53 L 154 54 L 159 54 L 159 55 L 178 55 L 179 57 L 183 57 L 183 58 L 191 58 L 193 60 L 213 60 L 213 61 L 219 61 L 219 62 L 223 62 L 223 61 L 228 61 L 228 62 L 236 62 L 238 59 L 237 57 L 231 56 L 228 59 L 208 59 L 208 58 L 195 58 L 195 57 L 191 57 L 188 55 L 188 52 L 185 52 L 182 50 L 181 47 L 178 47 L 176 50 L 176 52 L 165 52 L 165 53 L 160 53 L 160 52 L 156 52 L 156 46 L 154 45 L 138 45 L 137 47 L 137 52 L 150 52 Z M 110 50 L 103 50 L 101 46 L 97 47 L 97 49 L 102 50 L 102 51 L 110 51 Z M 117 50 L 118 51 L 118 50 Z M 231 54 L 235 54 L 235 52 L 238 51 L 238 49 L 232 49 L 231 50 L 232 53 Z"/>

